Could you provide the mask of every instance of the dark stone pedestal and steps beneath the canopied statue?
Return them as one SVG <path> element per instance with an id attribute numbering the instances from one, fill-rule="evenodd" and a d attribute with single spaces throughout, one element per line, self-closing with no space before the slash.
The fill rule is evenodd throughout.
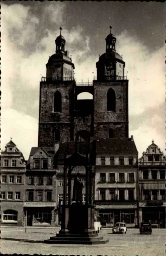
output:
<path id="1" fill-rule="evenodd" d="M 63 206 L 65 228 L 59 234 L 44 240 L 49 244 L 105 244 L 109 239 L 94 230 L 94 206 L 72 204 Z"/>

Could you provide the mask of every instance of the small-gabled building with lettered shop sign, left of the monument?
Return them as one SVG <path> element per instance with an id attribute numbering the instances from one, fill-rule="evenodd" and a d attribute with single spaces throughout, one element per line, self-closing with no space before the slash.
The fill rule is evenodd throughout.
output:
<path id="1" fill-rule="evenodd" d="M 54 148 L 34 147 L 26 166 L 24 225 L 55 226 Z"/>

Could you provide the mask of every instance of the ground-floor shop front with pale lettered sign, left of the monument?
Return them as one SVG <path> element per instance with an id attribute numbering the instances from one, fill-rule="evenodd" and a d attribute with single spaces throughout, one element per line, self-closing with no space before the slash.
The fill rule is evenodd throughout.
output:
<path id="1" fill-rule="evenodd" d="M 55 226 L 55 203 L 47 206 L 33 203 L 32 205 L 24 204 L 24 226 L 26 223 L 27 226 Z"/>

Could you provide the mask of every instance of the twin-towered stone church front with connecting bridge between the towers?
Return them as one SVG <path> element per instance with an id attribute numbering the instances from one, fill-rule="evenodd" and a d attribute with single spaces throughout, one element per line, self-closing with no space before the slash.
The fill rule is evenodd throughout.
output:
<path id="1" fill-rule="evenodd" d="M 128 138 L 125 62 L 116 52 L 116 38 L 111 31 L 105 40 L 106 52 L 96 63 L 97 79 L 91 85 L 76 84 L 75 67 L 65 50 L 60 28 L 55 54 L 46 64 L 46 78 L 40 82 L 39 147 L 67 140 Z M 82 92 L 91 93 L 93 99 L 78 100 Z"/>

